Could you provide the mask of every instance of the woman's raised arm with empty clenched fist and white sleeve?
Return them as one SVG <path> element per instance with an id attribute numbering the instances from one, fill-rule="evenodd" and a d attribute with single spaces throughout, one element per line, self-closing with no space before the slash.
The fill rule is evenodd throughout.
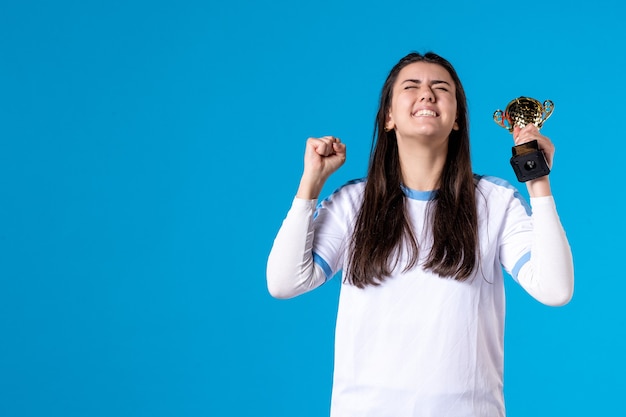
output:
<path id="1" fill-rule="evenodd" d="M 267 288 L 276 298 L 291 298 L 323 284 L 325 274 L 313 262 L 313 214 L 324 183 L 346 159 L 346 146 L 332 136 L 309 138 L 304 172 L 267 262 Z"/>

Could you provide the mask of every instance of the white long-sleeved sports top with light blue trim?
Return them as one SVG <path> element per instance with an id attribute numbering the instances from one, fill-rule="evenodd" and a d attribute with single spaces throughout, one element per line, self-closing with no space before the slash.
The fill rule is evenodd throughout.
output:
<path id="1" fill-rule="evenodd" d="M 315 211 L 314 200 L 294 200 L 268 260 L 272 295 L 302 294 L 343 269 L 363 189 L 363 181 L 348 183 Z M 503 268 L 546 304 L 567 302 L 573 290 L 571 251 L 554 199 L 531 199 L 531 215 L 510 184 L 482 178 L 480 266 L 459 282 L 421 268 L 434 192 L 405 194 L 420 266 L 402 272 L 402 257 L 380 286 L 341 285 L 331 416 L 504 416 Z"/>

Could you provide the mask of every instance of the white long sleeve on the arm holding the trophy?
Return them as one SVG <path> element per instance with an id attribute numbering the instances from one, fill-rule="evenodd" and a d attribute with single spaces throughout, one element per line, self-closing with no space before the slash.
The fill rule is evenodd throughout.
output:
<path id="1" fill-rule="evenodd" d="M 543 304 L 567 304 L 574 292 L 574 264 L 554 198 L 531 198 L 530 203 L 533 212 L 531 256 L 520 269 L 518 281 Z"/>

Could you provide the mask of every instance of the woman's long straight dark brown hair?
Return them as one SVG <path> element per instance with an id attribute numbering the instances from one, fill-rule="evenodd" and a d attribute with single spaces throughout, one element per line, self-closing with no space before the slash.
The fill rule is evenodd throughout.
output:
<path id="1" fill-rule="evenodd" d="M 385 131 L 398 73 L 414 62 L 437 64 L 448 71 L 456 86 L 459 127 L 450 133 L 440 188 L 430 203 L 433 246 L 423 267 L 441 277 L 463 281 L 477 263 L 476 184 L 470 160 L 465 91 L 447 60 L 432 52 L 424 55 L 413 52 L 391 69 L 380 95 L 363 204 L 356 218 L 346 274 L 346 280 L 359 288 L 379 285 L 388 278 L 398 266 L 403 249 L 409 254 L 405 271 L 415 267 L 419 260 L 419 244 L 405 207 L 395 132 Z"/>

